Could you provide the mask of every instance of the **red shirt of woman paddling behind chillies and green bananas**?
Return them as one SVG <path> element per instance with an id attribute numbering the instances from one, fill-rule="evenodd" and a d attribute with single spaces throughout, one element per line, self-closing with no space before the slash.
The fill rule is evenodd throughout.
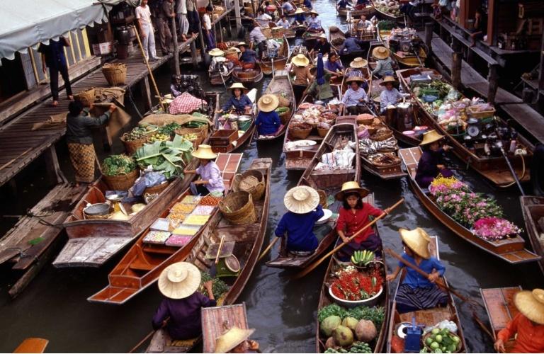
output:
<path id="1" fill-rule="evenodd" d="M 343 231 L 346 236 L 352 236 L 359 229 L 365 227 L 366 224 L 370 223 L 370 215 L 373 217 L 379 217 L 382 215 L 383 211 L 377 207 L 373 207 L 368 204 L 368 202 L 363 202 L 363 209 L 355 209 L 353 213 L 352 209 L 346 210 L 344 207 L 340 207 L 340 215 L 338 217 L 338 222 L 336 222 L 336 231 Z M 365 229 L 361 234 L 359 234 L 354 241 L 358 244 L 368 239 L 368 236 L 374 233 L 372 227 Z"/>

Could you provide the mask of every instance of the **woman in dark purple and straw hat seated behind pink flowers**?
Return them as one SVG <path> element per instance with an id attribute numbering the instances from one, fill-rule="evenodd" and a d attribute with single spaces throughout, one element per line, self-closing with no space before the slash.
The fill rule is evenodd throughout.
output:
<path id="1" fill-rule="evenodd" d="M 440 147 L 440 141 L 443 137 L 436 130 L 431 130 L 424 133 L 423 140 L 419 143 L 423 149 L 423 154 L 421 154 L 417 164 L 415 179 L 421 188 L 429 187 L 433 179 L 440 174 L 444 177 L 453 176 L 453 173 L 446 169 L 446 166 L 442 163 L 443 153 L 451 149 L 448 145 Z"/>

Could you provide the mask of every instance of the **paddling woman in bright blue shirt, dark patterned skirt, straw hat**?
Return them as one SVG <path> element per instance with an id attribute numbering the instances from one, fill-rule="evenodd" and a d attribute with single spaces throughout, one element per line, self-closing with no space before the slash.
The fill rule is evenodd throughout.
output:
<path id="1" fill-rule="evenodd" d="M 404 261 L 416 265 L 429 276 L 424 277 L 399 261 L 395 271 L 386 277 L 388 282 L 395 280 L 400 270 L 406 268 L 406 276 L 399 285 L 395 297 L 397 311 L 404 314 L 421 309 L 445 307 L 448 304 L 448 295 L 436 285 L 436 280 L 444 275 L 446 267 L 436 257 L 431 257 L 429 251 L 431 237 L 420 227 L 413 230 L 399 229 L 399 233 L 404 246 L 402 253 Z"/>

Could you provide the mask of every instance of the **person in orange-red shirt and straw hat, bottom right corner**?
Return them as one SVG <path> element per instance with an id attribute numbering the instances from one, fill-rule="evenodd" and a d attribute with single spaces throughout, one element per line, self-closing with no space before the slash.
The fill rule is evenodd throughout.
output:
<path id="1" fill-rule="evenodd" d="M 495 350 L 506 353 L 504 344 L 516 338 L 509 353 L 544 353 L 544 290 L 517 292 L 514 304 L 519 314 L 497 333 Z"/>

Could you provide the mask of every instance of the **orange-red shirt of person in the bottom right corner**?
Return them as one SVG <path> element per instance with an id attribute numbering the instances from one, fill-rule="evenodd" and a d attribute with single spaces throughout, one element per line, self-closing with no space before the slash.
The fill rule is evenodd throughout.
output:
<path id="1" fill-rule="evenodd" d="M 497 334 L 506 344 L 518 333 L 511 353 L 544 353 L 544 325 L 534 326 L 523 314 L 516 314 L 505 329 Z"/>

